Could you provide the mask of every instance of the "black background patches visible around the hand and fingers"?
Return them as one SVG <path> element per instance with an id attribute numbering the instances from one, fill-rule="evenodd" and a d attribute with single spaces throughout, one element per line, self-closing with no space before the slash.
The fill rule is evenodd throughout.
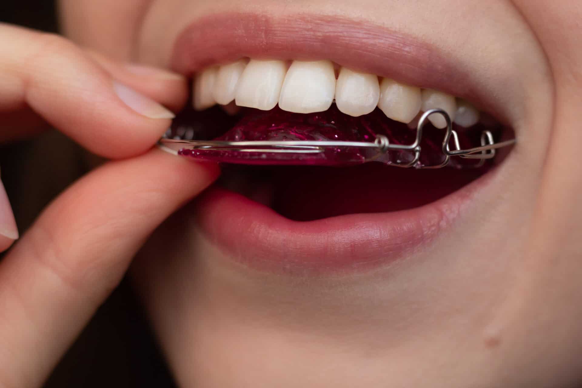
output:
<path id="1" fill-rule="evenodd" d="M 54 1 L 0 0 L 0 22 L 58 31 Z M 50 129 L 34 140 L 0 147 L 2 181 L 21 234 L 74 176 L 88 170 L 88 165 L 84 152 Z M 139 302 L 129 282 L 123 280 L 45 387 L 173 387 L 152 338 Z"/>

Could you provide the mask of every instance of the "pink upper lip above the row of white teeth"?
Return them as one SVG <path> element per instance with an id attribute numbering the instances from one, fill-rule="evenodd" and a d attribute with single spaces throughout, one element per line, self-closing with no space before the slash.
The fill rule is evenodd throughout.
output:
<path id="1" fill-rule="evenodd" d="M 329 59 L 405 84 L 448 92 L 473 102 L 504 124 L 513 121 L 508 105 L 478 82 L 479 74 L 441 48 L 401 31 L 345 17 L 276 18 L 240 12 L 204 16 L 178 35 L 171 67 L 191 76 L 204 67 L 243 57 Z M 510 74 L 498 77 L 504 83 Z"/>

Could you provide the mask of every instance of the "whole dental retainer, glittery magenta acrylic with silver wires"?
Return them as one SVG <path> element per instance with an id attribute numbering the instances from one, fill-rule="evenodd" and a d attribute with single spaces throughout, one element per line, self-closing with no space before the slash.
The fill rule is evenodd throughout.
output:
<path id="1" fill-rule="evenodd" d="M 477 139 L 474 133 L 459 134 L 442 109 L 425 112 L 416 131 L 395 131 L 386 126 L 381 114 L 351 118 L 333 109 L 337 108 L 289 119 L 286 112 L 275 108 L 244 118 L 216 140 L 164 137 L 159 147 L 198 161 L 246 165 L 349 166 L 377 161 L 403 168 L 437 169 L 479 168 L 495 158 L 496 149 L 515 143 L 514 139 L 495 143 L 487 129 L 477 133 Z M 442 115 L 446 120 L 446 130 L 437 136 L 442 136 L 439 140 L 423 136 L 431 115 Z M 462 143 L 477 141 L 477 147 L 461 147 Z"/>

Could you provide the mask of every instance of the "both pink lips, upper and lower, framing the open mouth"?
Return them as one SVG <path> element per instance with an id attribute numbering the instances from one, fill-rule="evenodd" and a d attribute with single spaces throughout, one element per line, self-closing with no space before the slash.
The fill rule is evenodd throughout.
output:
<path id="1" fill-rule="evenodd" d="M 437 48 L 397 31 L 337 17 L 272 19 L 247 13 L 204 17 L 179 35 L 172 67 L 191 75 L 242 57 L 330 59 L 503 113 L 494 96 L 480 91 L 469 74 Z M 496 171 L 420 208 L 311 222 L 289 220 L 242 195 L 211 188 L 200 198 L 198 220 L 211 241 L 254 268 L 302 273 L 370 268 L 430 243 L 466 213 L 474 194 Z"/>

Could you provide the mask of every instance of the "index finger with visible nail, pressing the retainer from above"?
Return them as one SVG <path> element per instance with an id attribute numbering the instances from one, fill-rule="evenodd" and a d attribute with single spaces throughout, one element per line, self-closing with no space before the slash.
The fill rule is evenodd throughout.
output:
<path id="1" fill-rule="evenodd" d="M 0 123 L 3 115 L 30 108 L 51 126 L 108 158 L 143 153 L 169 126 L 172 112 L 113 80 L 64 38 L 6 24 L 0 24 L 0 37 Z M 155 82 L 177 81 L 158 78 Z M 3 138 L 18 137 L 19 127 L 2 126 L 0 133 Z"/>

